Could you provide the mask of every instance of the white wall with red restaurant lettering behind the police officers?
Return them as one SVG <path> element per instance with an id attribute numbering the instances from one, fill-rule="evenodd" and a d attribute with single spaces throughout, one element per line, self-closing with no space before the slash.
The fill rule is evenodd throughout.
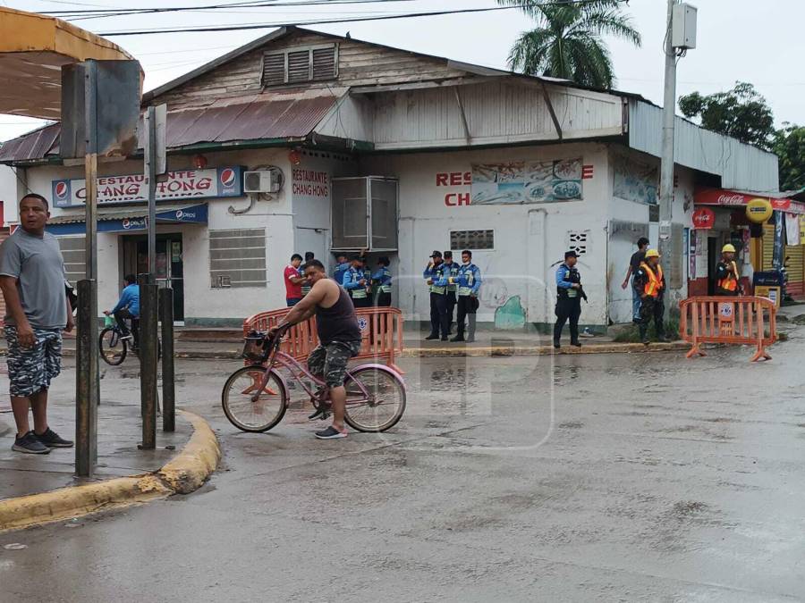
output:
<path id="1" fill-rule="evenodd" d="M 439 186 L 437 173 L 464 174 L 473 163 L 582 159 L 593 166 L 583 180 L 583 200 L 530 205 L 447 205 L 469 197 L 463 179 Z M 500 308 L 519 302 L 525 322 L 553 322 L 556 263 L 563 261 L 570 231 L 585 231 L 588 252 L 578 267 L 589 295 L 581 322 L 606 324 L 606 221 L 609 190 L 606 147 L 568 144 L 451 153 L 383 155 L 361 162 L 364 172 L 400 180 L 399 264 L 395 302 L 407 319 L 429 320 L 428 290 L 422 270 L 434 249 L 445 250 L 451 230 L 495 231 L 495 249 L 474 252 L 485 284 L 479 321 L 500 319 Z M 447 195 L 452 195 L 445 199 Z M 458 197 L 458 195 L 467 197 Z M 460 252 L 454 249 L 453 252 Z M 456 260 L 460 257 L 456 255 Z"/>

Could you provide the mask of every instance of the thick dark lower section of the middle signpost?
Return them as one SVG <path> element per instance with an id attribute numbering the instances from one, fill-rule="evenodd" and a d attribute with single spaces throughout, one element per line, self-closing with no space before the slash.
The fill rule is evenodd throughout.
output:
<path id="1" fill-rule="evenodd" d="M 157 448 L 157 285 L 140 280 L 142 447 Z"/>

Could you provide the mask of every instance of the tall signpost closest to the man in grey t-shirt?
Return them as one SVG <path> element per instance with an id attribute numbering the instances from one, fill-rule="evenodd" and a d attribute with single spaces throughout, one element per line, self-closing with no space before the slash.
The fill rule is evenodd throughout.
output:
<path id="1" fill-rule="evenodd" d="M 79 337 L 75 393 L 75 471 L 81 477 L 94 473 L 97 462 L 97 404 L 100 378 L 97 350 L 97 63 L 87 61 L 84 75 L 86 155 L 84 178 L 86 280 L 79 282 Z M 81 285 L 83 283 L 83 286 Z"/>

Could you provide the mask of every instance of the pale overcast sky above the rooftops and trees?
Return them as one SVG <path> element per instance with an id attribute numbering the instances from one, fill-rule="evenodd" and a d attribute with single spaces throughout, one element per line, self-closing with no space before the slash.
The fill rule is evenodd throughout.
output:
<path id="1" fill-rule="evenodd" d="M 269 0 L 270 1 L 270 0 Z M 292 0 L 275 0 L 288 3 Z M 295 0 L 299 1 L 299 0 Z M 198 6 L 230 4 L 233 0 L 0 0 L 0 5 L 32 12 L 87 10 L 91 7 Z M 711 93 L 732 88 L 735 80 L 749 81 L 766 96 L 775 121 L 805 124 L 805 0 L 694 0 L 699 7 L 698 48 L 679 63 L 678 92 Z M 411 13 L 445 8 L 495 6 L 495 0 L 400 0 L 370 5 L 275 6 L 238 8 L 226 12 L 163 13 L 86 21 L 76 25 L 97 33 L 121 29 L 167 26 L 220 25 L 229 23 L 300 22 L 326 16 L 357 17 L 379 13 Z M 662 104 L 663 51 L 666 0 L 631 0 L 624 10 L 631 14 L 643 36 L 634 48 L 609 40 L 614 58 L 617 88 L 635 92 Z M 310 26 L 352 38 L 398 46 L 468 63 L 504 67 L 509 48 L 530 21 L 517 10 L 449 15 L 418 19 L 352 22 Z M 216 33 L 161 34 L 109 37 L 142 63 L 145 88 L 155 88 L 191 71 L 220 54 L 242 46 L 271 29 Z M 19 136 L 41 123 L 0 115 L 0 140 Z"/>

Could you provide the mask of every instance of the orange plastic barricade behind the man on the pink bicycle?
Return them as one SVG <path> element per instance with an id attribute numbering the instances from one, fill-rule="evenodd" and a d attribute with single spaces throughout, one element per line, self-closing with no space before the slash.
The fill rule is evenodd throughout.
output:
<path id="1" fill-rule="evenodd" d="M 243 336 L 249 331 L 268 331 L 280 322 L 291 308 L 254 314 L 243 321 Z M 399 308 L 357 308 L 361 333 L 360 354 L 355 359 L 377 358 L 386 361 L 398 373 L 394 358 L 402 354 L 402 311 Z M 287 331 L 282 350 L 288 356 L 304 360 L 318 346 L 316 317 L 294 324 Z"/>

